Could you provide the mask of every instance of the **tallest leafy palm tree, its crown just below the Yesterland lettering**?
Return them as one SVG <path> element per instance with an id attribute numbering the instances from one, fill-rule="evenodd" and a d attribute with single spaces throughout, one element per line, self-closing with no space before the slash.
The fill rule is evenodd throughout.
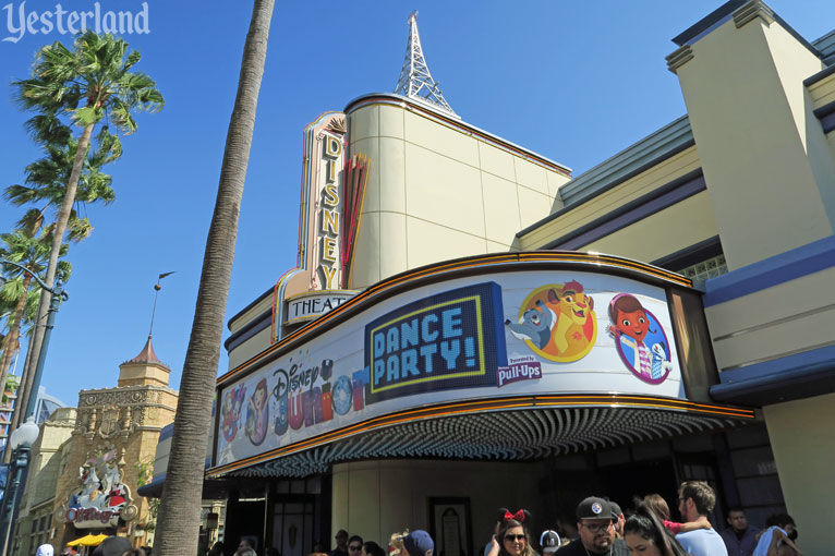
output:
<path id="1" fill-rule="evenodd" d="M 36 112 L 27 122 L 36 140 L 55 138 L 65 133 L 61 118 L 70 118 L 72 123 L 82 128 L 52 230 L 52 247 L 45 279 L 50 288 L 55 285 L 61 244 L 94 129 L 107 121 L 117 131 L 133 133 L 136 122 L 132 112 L 158 111 L 165 104 L 149 76 L 131 71 L 141 55 L 135 50 L 128 52 L 124 40 L 88 31 L 78 35 L 73 46 L 72 50 L 60 41 L 45 46 L 38 51 L 32 77 L 13 83 L 20 105 Z M 44 290 L 34 342 L 26 358 L 27 370 L 37 365 L 44 338 L 40 324 L 45 322 L 49 300 L 50 293 Z"/>

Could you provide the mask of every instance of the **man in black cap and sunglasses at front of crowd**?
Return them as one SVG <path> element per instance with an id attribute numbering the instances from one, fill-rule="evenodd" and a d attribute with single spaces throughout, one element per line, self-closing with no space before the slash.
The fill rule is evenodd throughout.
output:
<path id="1" fill-rule="evenodd" d="M 604 498 L 590 496 L 577 507 L 576 539 L 558 549 L 556 556 L 628 556 L 626 543 L 615 537 L 612 505 Z"/>

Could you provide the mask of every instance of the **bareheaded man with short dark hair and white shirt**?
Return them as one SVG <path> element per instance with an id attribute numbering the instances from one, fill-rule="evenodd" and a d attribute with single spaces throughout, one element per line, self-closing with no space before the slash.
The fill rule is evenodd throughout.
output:
<path id="1" fill-rule="evenodd" d="M 716 495 L 704 481 L 686 481 L 678 487 L 678 511 L 686 523 L 707 522 L 715 505 Z M 676 540 L 692 556 L 728 556 L 725 542 L 713 529 L 679 533 Z"/>

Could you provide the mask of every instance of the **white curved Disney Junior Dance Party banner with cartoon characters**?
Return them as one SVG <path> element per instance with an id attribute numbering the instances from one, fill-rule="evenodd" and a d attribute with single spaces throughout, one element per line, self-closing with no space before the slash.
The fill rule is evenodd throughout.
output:
<path id="1" fill-rule="evenodd" d="M 215 466 L 396 411 L 542 394 L 683 398 L 664 289 L 482 274 L 391 295 L 218 392 Z"/>

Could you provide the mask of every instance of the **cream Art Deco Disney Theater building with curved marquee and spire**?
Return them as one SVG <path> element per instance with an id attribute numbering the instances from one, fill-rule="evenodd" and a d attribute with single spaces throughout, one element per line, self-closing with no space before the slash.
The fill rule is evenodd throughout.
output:
<path id="1" fill-rule="evenodd" d="M 667 58 L 688 113 L 573 177 L 461 120 L 410 25 L 395 94 L 305 129 L 297 264 L 229 322 L 227 539 L 473 556 L 498 507 L 698 479 L 719 528 L 835 543 L 833 35 L 723 4 Z"/>

